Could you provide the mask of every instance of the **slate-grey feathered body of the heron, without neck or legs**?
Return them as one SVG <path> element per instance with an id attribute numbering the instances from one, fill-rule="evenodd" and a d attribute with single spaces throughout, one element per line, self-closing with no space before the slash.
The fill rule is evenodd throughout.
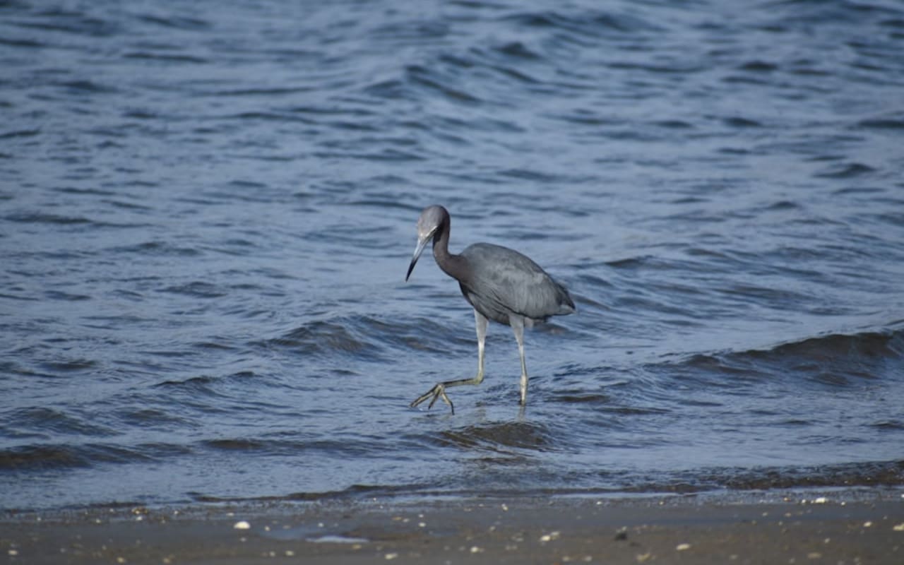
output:
<path id="1" fill-rule="evenodd" d="M 459 280 L 462 294 L 487 318 L 509 323 L 509 315 L 541 321 L 575 310 L 568 290 L 546 271 L 515 250 L 475 243 L 461 252 L 467 277 Z"/>

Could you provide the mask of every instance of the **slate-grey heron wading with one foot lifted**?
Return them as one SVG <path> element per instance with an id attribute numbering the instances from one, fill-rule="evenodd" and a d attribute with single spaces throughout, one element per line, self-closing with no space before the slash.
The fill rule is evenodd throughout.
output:
<path id="1" fill-rule="evenodd" d="M 511 325 L 521 355 L 521 405 L 527 403 L 527 366 L 524 364 L 524 326 L 531 327 L 551 315 L 566 315 L 575 311 L 568 290 L 553 280 L 539 265 L 515 250 L 490 243 L 475 243 L 460 255 L 449 253 L 449 212 L 442 206 L 429 206 L 418 219 L 418 247 L 414 250 L 408 274 L 433 240 L 433 257 L 439 268 L 458 281 L 461 293 L 474 306 L 477 327 L 477 375 L 473 379 L 438 382 L 426 394 L 411 402 L 415 408 L 432 397 L 427 409 L 437 399 L 455 406 L 446 394 L 449 387 L 480 384 L 484 381 L 484 341 L 486 322 L 493 320 Z"/>

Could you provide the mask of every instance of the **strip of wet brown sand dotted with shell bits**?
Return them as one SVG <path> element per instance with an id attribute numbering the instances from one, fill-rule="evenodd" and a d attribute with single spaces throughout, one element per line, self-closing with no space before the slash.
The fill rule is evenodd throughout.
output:
<path id="1" fill-rule="evenodd" d="M 904 498 L 371 500 L 6 512 L 0 561 L 900 565 Z"/>

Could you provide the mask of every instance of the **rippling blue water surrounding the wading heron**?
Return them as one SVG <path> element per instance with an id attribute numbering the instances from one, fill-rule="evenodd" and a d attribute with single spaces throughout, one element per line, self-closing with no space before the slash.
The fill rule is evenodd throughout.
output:
<path id="1" fill-rule="evenodd" d="M 0 4 L 0 507 L 904 484 L 904 5 Z M 425 255 L 577 315 L 473 376 Z"/>

